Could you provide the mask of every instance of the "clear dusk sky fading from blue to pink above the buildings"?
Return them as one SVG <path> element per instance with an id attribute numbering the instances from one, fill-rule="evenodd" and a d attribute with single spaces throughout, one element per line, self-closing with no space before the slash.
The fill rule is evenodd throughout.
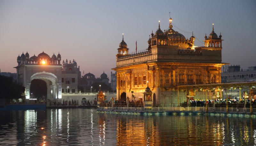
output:
<path id="1" fill-rule="evenodd" d="M 186 38 L 197 38 L 203 46 L 205 33 L 222 35 L 222 62 L 247 69 L 256 66 L 255 0 L 1 0 L 0 50 L 1 72 L 16 73 L 17 57 L 41 52 L 63 60 L 75 59 L 81 74 L 103 71 L 110 79 L 116 67 L 119 43 L 129 53 L 148 48 L 148 38 L 169 26 Z M 84 72 L 84 73 L 83 73 Z M 114 71 L 113 71 L 114 72 Z"/>

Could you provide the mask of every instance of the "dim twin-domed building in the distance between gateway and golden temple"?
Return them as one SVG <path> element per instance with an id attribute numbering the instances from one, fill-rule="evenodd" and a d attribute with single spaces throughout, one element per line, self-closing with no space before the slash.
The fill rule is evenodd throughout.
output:
<path id="1" fill-rule="evenodd" d="M 110 86 L 108 75 L 105 72 L 100 75 L 100 78 L 95 78 L 95 75 L 92 73 L 86 73 L 81 78 L 80 86 L 84 87 L 85 92 L 86 90 L 88 92 L 91 90 L 93 83 L 105 83 L 106 85 Z"/>

